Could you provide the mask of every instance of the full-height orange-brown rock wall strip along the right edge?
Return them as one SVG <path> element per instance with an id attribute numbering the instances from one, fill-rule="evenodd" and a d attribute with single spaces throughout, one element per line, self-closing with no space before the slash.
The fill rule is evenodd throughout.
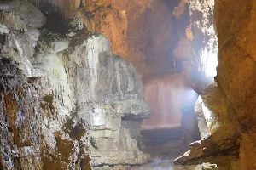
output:
<path id="1" fill-rule="evenodd" d="M 232 7 L 229 6 L 231 3 Z M 255 1 L 216 1 L 215 19 L 219 40 L 216 80 L 242 129 L 241 169 L 256 168 L 256 160 L 250 155 L 255 153 L 255 10 Z M 232 20 L 227 20 L 230 16 Z"/>

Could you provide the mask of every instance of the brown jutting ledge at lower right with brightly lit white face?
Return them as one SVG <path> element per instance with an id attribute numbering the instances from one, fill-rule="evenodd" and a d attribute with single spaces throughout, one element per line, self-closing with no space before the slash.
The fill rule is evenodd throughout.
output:
<path id="1" fill-rule="evenodd" d="M 220 167 L 225 163 L 222 166 L 230 166 L 238 161 L 241 128 L 216 84 L 206 88 L 200 99 L 196 111 L 200 114 L 198 126 L 202 140 L 189 144 L 189 151 L 174 163 L 198 164 L 209 161 Z M 227 161 L 224 163 L 218 157 Z"/>

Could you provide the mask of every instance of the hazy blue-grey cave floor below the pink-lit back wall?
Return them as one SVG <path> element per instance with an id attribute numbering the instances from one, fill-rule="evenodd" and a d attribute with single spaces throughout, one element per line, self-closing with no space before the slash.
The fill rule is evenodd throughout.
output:
<path id="1" fill-rule="evenodd" d="M 188 144 L 183 144 L 181 127 L 147 129 L 142 132 L 143 151 L 150 154 L 154 161 L 137 167 L 137 170 L 190 170 L 194 167 L 173 165 L 172 160 L 182 156 L 188 150 Z"/>

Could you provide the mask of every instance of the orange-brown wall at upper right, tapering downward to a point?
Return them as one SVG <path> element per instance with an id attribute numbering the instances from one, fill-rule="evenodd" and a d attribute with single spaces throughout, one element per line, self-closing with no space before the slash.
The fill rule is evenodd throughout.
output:
<path id="1" fill-rule="evenodd" d="M 229 3 L 232 3 L 231 1 Z M 238 9 L 239 6 L 239 9 Z M 252 124 L 245 126 L 252 127 L 255 120 L 255 75 L 256 65 L 253 48 L 253 36 L 250 33 L 254 29 L 253 12 L 255 3 L 253 1 L 245 1 L 237 3 L 233 8 L 228 8 L 227 16 L 233 14 L 234 20 L 220 20 L 220 14 L 226 8 L 226 3 L 216 3 L 216 28 L 220 41 L 218 54 L 218 76 L 216 80 L 218 85 L 224 91 L 230 105 L 236 111 L 237 116 L 242 121 Z M 236 26 L 233 23 L 236 22 Z M 224 27 L 228 26 L 229 31 L 224 31 Z"/>

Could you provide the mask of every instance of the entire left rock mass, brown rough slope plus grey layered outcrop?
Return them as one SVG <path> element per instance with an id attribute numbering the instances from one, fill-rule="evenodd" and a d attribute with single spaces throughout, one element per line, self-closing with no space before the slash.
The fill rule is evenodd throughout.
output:
<path id="1" fill-rule="evenodd" d="M 40 29 L 47 20 L 27 1 L 0 8 L 0 167 L 101 169 L 148 161 L 137 147 L 139 122 L 151 116 L 143 83 L 108 38 Z"/>

